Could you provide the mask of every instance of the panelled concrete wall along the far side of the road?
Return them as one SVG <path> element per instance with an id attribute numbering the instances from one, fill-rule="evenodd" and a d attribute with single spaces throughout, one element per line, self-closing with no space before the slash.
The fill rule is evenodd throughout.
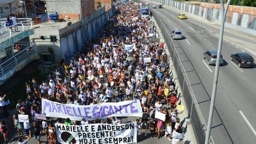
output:
<path id="1" fill-rule="evenodd" d="M 161 0 L 152 1 L 159 4 L 161 3 Z M 189 4 L 174 0 L 163 0 L 163 5 L 171 6 L 200 17 L 204 17 L 209 21 L 213 20 L 220 23 L 221 20 L 219 4 L 214 4 L 214 9 L 212 9 L 212 4 L 209 3 Z M 240 29 L 241 31 L 251 35 L 256 35 L 256 8 L 246 6 L 230 6 L 225 22 L 225 26 Z"/>

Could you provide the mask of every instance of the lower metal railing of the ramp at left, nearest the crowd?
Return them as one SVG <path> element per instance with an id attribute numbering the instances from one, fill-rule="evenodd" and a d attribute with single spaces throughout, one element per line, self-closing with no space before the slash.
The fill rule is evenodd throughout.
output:
<path id="1" fill-rule="evenodd" d="M 0 63 L 0 77 L 7 74 L 12 68 L 17 66 L 20 62 L 23 60 L 26 60 L 26 58 L 29 58 L 30 56 L 34 55 L 37 52 L 37 47 L 35 45 L 28 46 L 23 50 L 19 50 L 15 53 L 14 56 L 8 58 L 4 62 Z M 6 75 L 8 78 L 11 75 Z"/>

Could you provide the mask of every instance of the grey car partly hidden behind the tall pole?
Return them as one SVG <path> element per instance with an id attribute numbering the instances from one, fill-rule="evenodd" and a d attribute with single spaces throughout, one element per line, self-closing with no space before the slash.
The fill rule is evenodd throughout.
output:
<path id="1" fill-rule="evenodd" d="M 217 62 L 217 51 L 211 50 L 211 51 L 204 52 L 204 57 L 203 58 L 208 61 L 209 65 L 216 64 L 216 62 Z M 220 65 L 222 65 L 222 64 L 223 64 L 223 57 L 221 55 Z"/>

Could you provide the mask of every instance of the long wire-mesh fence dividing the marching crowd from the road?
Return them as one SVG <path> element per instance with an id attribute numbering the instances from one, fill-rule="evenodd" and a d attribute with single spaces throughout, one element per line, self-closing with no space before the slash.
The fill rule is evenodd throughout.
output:
<path id="1" fill-rule="evenodd" d="M 134 0 L 135 2 L 139 2 L 137 0 Z M 161 17 L 157 16 L 157 14 L 154 12 L 154 9 L 151 9 L 149 7 L 149 11 L 152 12 L 152 16 L 157 22 L 157 25 L 162 27 L 161 32 L 163 35 L 163 38 L 166 42 L 166 45 L 170 52 L 170 57 L 173 61 L 173 66 L 175 67 L 176 73 L 177 73 L 177 79 L 180 83 L 180 87 L 182 89 L 183 97 L 186 101 L 186 106 L 189 110 L 189 117 L 191 119 L 191 124 L 194 128 L 195 135 L 197 138 L 197 141 L 199 144 L 204 144 L 205 142 L 205 131 L 207 130 L 207 124 L 204 121 L 203 115 L 201 113 L 201 110 L 198 106 L 198 102 L 195 98 L 193 89 L 189 83 L 189 79 L 186 75 L 186 71 L 184 69 L 184 66 L 182 64 L 182 61 L 179 57 L 179 49 L 182 49 L 179 43 L 174 42 L 171 38 L 171 31 L 168 29 L 168 27 L 165 25 L 165 23 L 161 23 Z M 211 144 L 214 144 L 213 139 L 211 138 Z"/>

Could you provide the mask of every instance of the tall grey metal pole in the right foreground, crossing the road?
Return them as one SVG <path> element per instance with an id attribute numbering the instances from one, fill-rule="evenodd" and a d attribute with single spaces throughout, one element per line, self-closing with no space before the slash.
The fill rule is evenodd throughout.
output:
<path id="1" fill-rule="evenodd" d="M 217 90 L 217 83 L 218 83 L 218 72 L 220 68 L 220 58 L 221 58 L 221 48 L 222 48 L 222 40 L 223 40 L 223 32 L 224 32 L 224 24 L 225 24 L 225 18 L 227 14 L 228 6 L 230 5 L 230 1 L 227 1 L 226 8 L 224 9 L 224 2 L 221 0 L 221 28 L 220 28 L 220 37 L 218 41 L 218 52 L 217 52 L 217 61 L 215 66 L 215 74 L 214 74 L 214 81 L 212 86 L 212 98 L 211 98 L 211 105 L 209 110 L 209 118 L 207 123 L 207 132 L 205 137 L 204 144 L 209 144 L 209 138 L 211 134 L 211 128 L 212 128 L 212 116 L 213 116 L 213 110 L 214 110 L 214 103 L 215 103 L 215 96 L 216 96 L 216 90 Z"/>

